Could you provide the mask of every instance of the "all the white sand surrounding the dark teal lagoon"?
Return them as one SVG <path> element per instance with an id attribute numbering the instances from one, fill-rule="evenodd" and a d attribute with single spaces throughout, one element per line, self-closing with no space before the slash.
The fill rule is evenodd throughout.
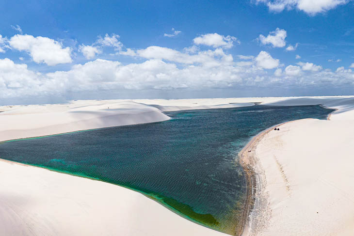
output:
<path id="1" fill-rule="evenodd" d="M 163 111 L 258 102 L 322 104 L 338 110 L 330 121 L 286 123 L 249 143 L 252 158 L 247 158 L 256 176 L 256 199 L 244 235 L 349 235 L 354 222 L 350 172 L 354 102 L 349 96 L 81 100 L 2 106 L 0 141 L 168 120 Z M 0 177 L 4 180 L 1 235 L 222 235 L 141 193 L 104 182 L 8 161 L 0 161 Z"/>

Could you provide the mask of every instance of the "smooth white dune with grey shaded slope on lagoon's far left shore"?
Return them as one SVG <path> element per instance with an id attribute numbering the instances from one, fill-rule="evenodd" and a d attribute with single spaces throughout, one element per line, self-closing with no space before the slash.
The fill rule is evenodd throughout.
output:
<path id="1" fill-rule="evenodd" d="M 157 108 L 131 101 L 14 107 L 0 113 L 0 141 L 168 119 Z"/>

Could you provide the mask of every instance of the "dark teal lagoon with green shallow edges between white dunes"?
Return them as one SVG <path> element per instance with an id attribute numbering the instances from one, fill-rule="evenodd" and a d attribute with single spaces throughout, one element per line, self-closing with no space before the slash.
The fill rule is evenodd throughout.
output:
<path id="1" fill-rule="evenodd" d="M 234 234 L 246 188 L 237 156 L 242 147 L 270 126 L 326 119 L 331 111 L 254 106 L 166 112 L 169 121 L 1 142 L 0 157 L 135 189 L 190 220 Z"/>

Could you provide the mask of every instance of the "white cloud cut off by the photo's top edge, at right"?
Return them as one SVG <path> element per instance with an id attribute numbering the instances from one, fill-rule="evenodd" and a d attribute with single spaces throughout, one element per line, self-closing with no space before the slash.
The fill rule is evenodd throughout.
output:
<path id="1" fill-rule="evenodd" d="M 349 0 L 256 0 L 257 3 L 264 3 L 270 11 L 281 12 L 284 9 L 298 9 L 314 16 L 331 10 L 338 5 L 346 4 Z"/>

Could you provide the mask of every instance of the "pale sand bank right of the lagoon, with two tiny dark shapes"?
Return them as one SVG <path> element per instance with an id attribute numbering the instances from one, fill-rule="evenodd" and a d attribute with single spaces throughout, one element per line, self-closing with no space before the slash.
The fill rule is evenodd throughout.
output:
<path id="1" fill-rule="evenodd" d="M 354 99 L 323 104 L 339 109 L 331 120 L 289 122 L 255 141 L 257 194 L 244 235 L 354 235 Z"/>

